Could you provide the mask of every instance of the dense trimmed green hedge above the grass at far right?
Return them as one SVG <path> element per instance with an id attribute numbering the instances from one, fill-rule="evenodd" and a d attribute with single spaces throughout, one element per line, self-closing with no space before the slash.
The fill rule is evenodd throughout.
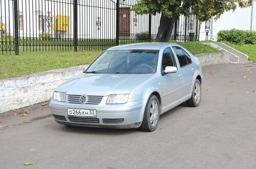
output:
<path id="1" fill-rule="evenodd" d="M 234 44 L 256 44 L 256 32 L 231 29 L 218 32 L 218 41 L 228 41 Z"/>

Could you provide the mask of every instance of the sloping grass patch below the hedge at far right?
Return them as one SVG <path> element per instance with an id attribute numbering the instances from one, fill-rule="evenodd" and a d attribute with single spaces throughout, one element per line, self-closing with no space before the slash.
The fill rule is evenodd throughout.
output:
<path id="1" fill-rule="evenodd" d="M 238 44 L 233 44 L 233 43 L 230 43 L 230 42 L 223 42 L 223 43 L 233 47 L 233 49 L 236 49 L 236 50 L 248 55 L 249 60 L 251 60 L 253 62 L 256 62 L 256 44 L 238 45 Z"/>

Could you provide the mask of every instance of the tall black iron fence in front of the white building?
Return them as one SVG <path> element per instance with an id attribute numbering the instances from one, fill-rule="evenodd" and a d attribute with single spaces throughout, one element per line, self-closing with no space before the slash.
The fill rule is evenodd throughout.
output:
<path id="1" fill-rule="evenodd" d="M 84 51 L 154 41 L 160 14 L 137 15 L 136 0 L 1 0 L 0 51 Z M 172 40 L 198 39 L 194 16 L 175 23 Z"/>

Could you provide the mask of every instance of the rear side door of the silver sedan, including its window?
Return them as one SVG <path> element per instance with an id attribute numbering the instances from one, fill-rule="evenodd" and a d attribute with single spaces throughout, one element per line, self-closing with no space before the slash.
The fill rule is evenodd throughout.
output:
<path id="1" fill-rule="evenodd" d="M 182 74 L 182 90 L 183 95 L 190 96 L 191 87 L 193 84 L 194 79 L 194 71 L 195 67 L 192 62 L 191 57 L 187 54 L 181 47 L 173 46 L 174 52 L 179 60 L 180 63 L 180 70 Z"/>

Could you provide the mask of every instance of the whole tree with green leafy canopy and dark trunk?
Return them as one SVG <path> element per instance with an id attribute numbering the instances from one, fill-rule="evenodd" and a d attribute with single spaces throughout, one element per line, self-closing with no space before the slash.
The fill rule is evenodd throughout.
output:
<path id="1" fill-rule="evenodd" d="M 252 0 L 139 0 L 132 7 L 137 14 L 161 13 L 160 25 L 156 41 L 169 41 L 174 22 L 179 15 L 196 15 L 200 21 L 206 21 L 211 16 L 218 19 L 225 11 L 237 7 L 248 7 Z"/>

